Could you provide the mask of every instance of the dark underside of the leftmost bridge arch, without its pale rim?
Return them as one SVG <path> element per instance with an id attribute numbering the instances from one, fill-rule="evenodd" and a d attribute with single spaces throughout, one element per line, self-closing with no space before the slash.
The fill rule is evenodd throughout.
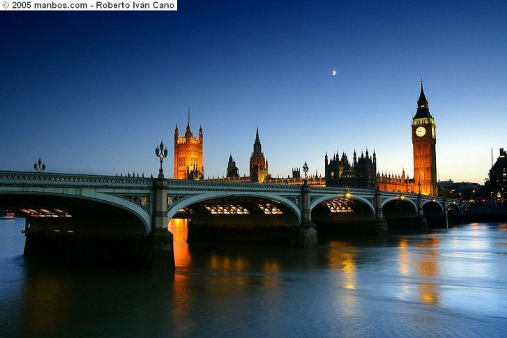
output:
<path id="1" fill-rule="evenodd" d="M 3 193 L 0 206 L 28 218 L 31 230 L 111 235 L 149 231 L 149 224 L 127 207 L 81 196 Z"/>

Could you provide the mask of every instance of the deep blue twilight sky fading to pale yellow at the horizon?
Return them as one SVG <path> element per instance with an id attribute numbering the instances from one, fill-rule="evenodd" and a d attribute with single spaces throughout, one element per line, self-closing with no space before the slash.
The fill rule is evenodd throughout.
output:
<path id="1" fill-rule="evenodd" d="M 270 173 L 369 149 L 413 177 L 420 81 L 440 180 L 483 183 L 507 148 L 505 1 L 179 0 L 177 12 L 0 12 L 0 170 L 158 172 L 204 132 L 205 177 L 240 174 L 256 127 Z M 337 76 L 332 76 L 332 71 Z"/>

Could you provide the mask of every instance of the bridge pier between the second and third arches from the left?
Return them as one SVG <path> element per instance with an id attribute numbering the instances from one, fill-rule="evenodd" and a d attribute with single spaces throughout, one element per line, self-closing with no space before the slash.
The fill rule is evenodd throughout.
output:
<path id="1" fill-rule="evenodd" d="M 316 246 L 318 244 L 317 226 L 312 222 L 310 186 L 306 180 L 301 188 L 301 214 L 302 224 L 294 228 L 291 234 L 291 243 L 303 247 Z"/>

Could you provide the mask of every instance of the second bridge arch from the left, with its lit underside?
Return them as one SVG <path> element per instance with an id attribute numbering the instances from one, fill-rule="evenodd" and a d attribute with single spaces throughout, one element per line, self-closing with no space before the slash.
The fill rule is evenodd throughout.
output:
<path id="1" fill-rule="evenodd" d="M 179 216 L 185 208 L 182 218 L 191 219 L 187 224 L 188 242 L 283 244 L 290 241 L 291 231 L 301 224 L 299 206 L 275 193 L 223 191 L 185 197 L 168 195 L 169 202 L 175 201 L 168 208 L 167 218 Z"/>

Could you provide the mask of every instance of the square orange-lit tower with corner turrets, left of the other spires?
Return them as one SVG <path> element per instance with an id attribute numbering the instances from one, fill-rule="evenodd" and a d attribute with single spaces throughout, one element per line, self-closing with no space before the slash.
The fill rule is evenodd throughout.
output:
<path id="1" fill-rule="evenodd" d="M 179 137 L 179 130 L 174 130 L 174 178 L 177 180 L 199 180 L 204 177 L 202 161 L 202 126 L 199 136 L 194 138 L 190 128 L 190 108 L 185 136 Z"/>

